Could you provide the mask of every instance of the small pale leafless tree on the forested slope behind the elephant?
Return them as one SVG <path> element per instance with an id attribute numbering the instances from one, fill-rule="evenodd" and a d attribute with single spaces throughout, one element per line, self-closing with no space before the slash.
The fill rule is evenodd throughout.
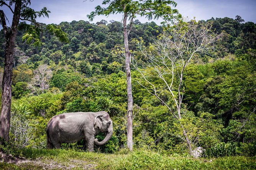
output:
<path id="1" fill-rule="evenodd" d="M 49 80 L 52 76 L 52 71 L 46 64 L 40 65 L 36 70 L 34 70 L 32 85 L 38 86 L 42 93 L 44 93 L 44 90 L 49 88 Z"/>

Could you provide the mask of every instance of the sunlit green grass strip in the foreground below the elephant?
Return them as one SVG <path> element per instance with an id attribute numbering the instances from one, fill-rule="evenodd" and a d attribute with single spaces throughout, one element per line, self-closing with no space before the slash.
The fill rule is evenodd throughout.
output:
<path id="1" fill-rule="evenodd" d="M 220 157 L 195 159 L 182 156 L 161 155 L 152 151 L 122 150 L 115 154 L 83 152 L 64 149 L 25 149 L 30 162 L 21 164 L 0 163 L 3 170 L 38 169 L 99 169 L 99 170 L 253 170 L 256 157 Z"/>

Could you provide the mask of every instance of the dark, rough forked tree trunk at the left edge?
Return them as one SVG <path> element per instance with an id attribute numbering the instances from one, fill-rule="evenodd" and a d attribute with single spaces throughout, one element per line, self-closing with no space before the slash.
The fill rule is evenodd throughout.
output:
<path id="1" fill-rule="evenodd" d="M 20 21 L 20 12 L 21 12 L 21 0 L 16 0 L 15 10 L 13 14 L 13 21 L 11 24 L 11 30 L 8 31 L 7 28 L 3 28 L 5 29 L 6 48 L 5 48 L 5 66 L 3 71 L 3 84 L 2 84 L 2 110 L 0 115 L 0 137 L 2 137 L 6 141 L 8 141 L 9 130 L 10 130 L 11 78 L 12 78 L 12 67 L 13 67 L 13 54 L 14 54 L 14 47 L 15 47 L 15 38 L 17 35 L 18 24 Z M 0 140 L 0 144 L 3 144 L 2 140 Z"/>

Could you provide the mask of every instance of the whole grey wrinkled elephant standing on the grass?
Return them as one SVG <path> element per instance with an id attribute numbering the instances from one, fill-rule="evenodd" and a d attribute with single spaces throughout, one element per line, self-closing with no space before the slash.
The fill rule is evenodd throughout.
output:
<path id="1" fill-rule="evenodd" d="M 103 141 L 94 139 L 99 132 L 106 134 Z M 63 113 L 52 117 L 46 128 L 47 147 L 60 148 L 62 143 L 73 143 L 85 139 L 88 151 L 94 144 L 103 145 L 113 134 L 112 120 L 107 112 Z"/>

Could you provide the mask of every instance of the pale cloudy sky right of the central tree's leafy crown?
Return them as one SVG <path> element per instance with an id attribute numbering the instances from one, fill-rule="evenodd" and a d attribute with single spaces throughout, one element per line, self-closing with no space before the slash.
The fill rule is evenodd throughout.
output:
<path id="1" fill-rule="evenodd" d="M 177 9 L 183 16 L 198 20 L 210 18 L 235 18 L 240 15 L 246 22 L 256 23 L 255 0 L 176 0 Z"/>

